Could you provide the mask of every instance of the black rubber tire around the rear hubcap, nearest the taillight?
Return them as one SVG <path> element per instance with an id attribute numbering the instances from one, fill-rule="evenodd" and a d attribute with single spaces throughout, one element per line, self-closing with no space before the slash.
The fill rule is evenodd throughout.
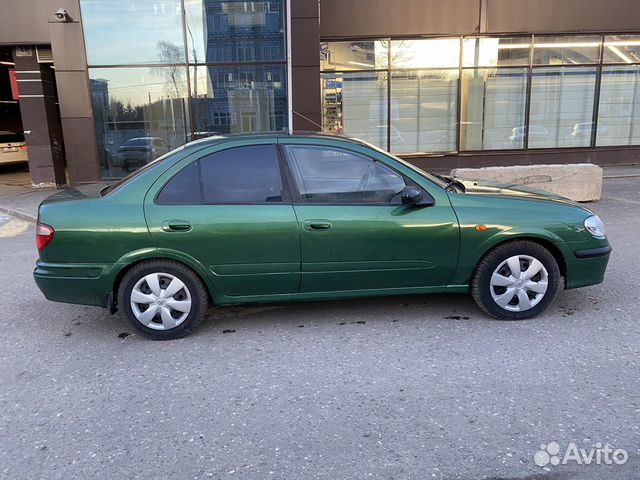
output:
<path id="1" fill-rule="evenodd" d="M 142 279 L 150 274 L 167 275 L 167 277 L 173 276 L 177 278 L 185 287 L 185 289 L 180 290 L 177 295 L 182 295 L 183 297 L 188 295 L 190 297 L 189 300 L 191 301 L 191 306 L 186 318 L 173 328 L 165 328 L 163 324 L 164 322 L 160 319 L 160 315 L 154 317 L 157 318 L 157 320 L 154 319 L 149 324 L 156 328 L 150 328 L 149 326 L 141 323 L 141 321 L 136 318 L 136 314 L 133 311 L 131 306 L 132 291 L 134 287 L 142 281 Z M 164 277 L 161 281 L 165 281 Z M 145 288 L 148 287 L 145 285 Z M 209 295 L 202 283 L 202 280 L 200 280 L 200 277 L 182 263 L 175 262 L 173 260 L 148 260 L 135 265 L 122 278 L 118 288 L 118 305 L 124 312 L 124 316 L 127 318 L 131 326 L 145 337 L 150 338 L 151 340 L 174 340 L 191 334 L 198 325 L 200 325 L 200 322 L 202 322 L 207 313 Z M 180 312 L 176 310 L 172 312 L 172 314 L 179 315 Z M 169 318 L 169 320 L 171 320 L 171 318 Z"/>

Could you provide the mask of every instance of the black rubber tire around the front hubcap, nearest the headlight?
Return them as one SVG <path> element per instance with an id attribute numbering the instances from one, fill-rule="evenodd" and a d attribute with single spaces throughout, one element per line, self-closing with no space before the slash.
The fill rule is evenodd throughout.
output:
<path id="1" fill-rule="evenodd" d="M 524 311 L 510 311 L 507 309 L 519 308 L 520 300 L 512 299 L 511 302 L 515 302 L 515 305 L 507 304 L 506 308 L 503 308 L 496 303 L 492 295 L 492 291 L 496 295 L 500 293 L 499 287 L 491 285 L 491 278 L 494 272 L 503 262 L 513 256 L 533 257 L 542 263 L 547 273 L 546 292 L 544 292 L 540 300 L 537 300 L 537 303 L 533 307 Z M 526 261 L 524 265 L 522 268 L 526 267 Z M 508 267 L 506 268 L 509 270 Z M 480 260 L 471 280 L 471 294 L 482 311 L 493 318 L 499 320 L 524 320 L 535 317 L 546 310 L 556 298 L 562 286 L 563 279 L 560 268 L 558 267 L 558 262 L 549 250 L 529 240 L 514 240 L 497 246 Z M 504 291 L 506 290 L 507 287 L 504 287 Z M 518 293 L 517 290 L 516 292 Z M 535 295 L 533 292 L 527 294 Z M 517 297 L 517 294 L 515 296 Z M 523 301 L 527 301 L 527 298 L 524 298 Z"/>

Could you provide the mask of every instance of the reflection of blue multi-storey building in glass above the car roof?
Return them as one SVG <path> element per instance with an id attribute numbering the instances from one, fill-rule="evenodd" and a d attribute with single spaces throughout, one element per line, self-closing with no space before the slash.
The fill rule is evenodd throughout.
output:
<path id="1" fill-rule="evenodd" d="M 283 2 L 204 0 L 202 21 L 205 61 L 226 65 L 193 67 L 196 135 L 285 129 Z"/>

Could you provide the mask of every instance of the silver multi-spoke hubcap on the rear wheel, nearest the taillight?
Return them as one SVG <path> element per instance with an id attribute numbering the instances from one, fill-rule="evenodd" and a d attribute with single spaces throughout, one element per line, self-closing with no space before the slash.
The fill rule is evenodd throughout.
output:
<path id="1" fill-rule="evenodd" d="M 138 280 L 130 300 L 136 319 L 154 330 L 177 327 L 191 311 L 189 289 L 170 273 L 150 273 Z"/>

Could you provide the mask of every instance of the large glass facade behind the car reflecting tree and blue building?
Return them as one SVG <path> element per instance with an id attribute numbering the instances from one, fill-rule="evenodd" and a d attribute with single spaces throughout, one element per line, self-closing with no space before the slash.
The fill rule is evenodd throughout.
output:
<path id="1" fill-rule="evenodd" d="M 103 176 L 121 176 L 200 136 L 286 130 L 284 0 L 189 0 L 184 13 L 167 0 L 136 7 L 133 17 L 124 0 L 111 2 L 109 13 L 95 0 L 82 4 L 91 17 L 85 36 Z M 119 52 L 110 56 L 92 26 L 94 15 L 116 12 L 122 35 L 109 33 Z M 127 35 L 133 44 L 123 44 Z"/>

